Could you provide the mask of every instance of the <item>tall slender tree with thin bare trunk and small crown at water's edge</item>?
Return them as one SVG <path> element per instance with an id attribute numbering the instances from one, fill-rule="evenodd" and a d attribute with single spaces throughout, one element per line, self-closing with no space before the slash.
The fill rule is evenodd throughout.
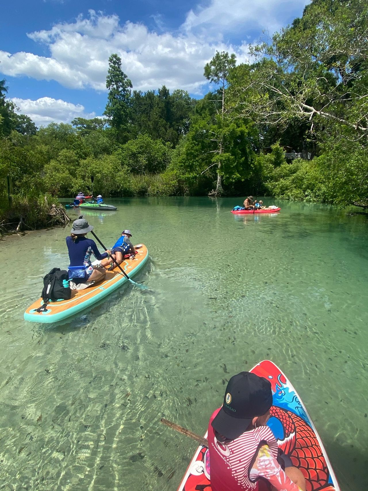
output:
<path id="1" fill-rule="evenodd" d="M 225 123 L 225 89 L 227 87 L 227 81 L 229 77 L 229 72 L 235 67 L 236 56 L 234 54 L 229 56 L 229 53 L 222 51 L 221 53 L 216 51 L 216 55 L 213 56 L 211 61 L 206 64 L 204 76 L 210 82 L 214 82 L 219 85 L 218 92 L 221 94 L 221 107 L 217 110 L 218 116 L 215 118 L 216 123 L 212 125 L 212 140 L 216 142 L 215 152 L 218 154 L 217 162 L 211 164 L 217 164 L 217 183 L 216 189 L 211 194 L 214 196 L 220 196 L 223 192 L 222 189 L 222 175 L 221 165 L 228 162 L 227 158 L 224 158 L 222 154 L 224 153 L 224 123 Z M 217 101 L 215 101 L 217 103 Z M 216 130 L 218 127 L 218 130 Z M 214 131 L 213 131 L 214 130 Z"/>

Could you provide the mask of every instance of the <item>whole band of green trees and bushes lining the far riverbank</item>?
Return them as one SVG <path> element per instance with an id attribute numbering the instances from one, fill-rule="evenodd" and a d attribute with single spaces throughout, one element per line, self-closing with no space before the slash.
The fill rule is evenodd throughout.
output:
<path id="1" fill-rule="evenodd" d="M 314 0 L 252 45 L 250 63 L 216 53 L 200 100 L 165 86 L 133 90 L 113 54 L 104 117 L 39 129 L 0 82 L 0 221 L 21 211 L 45 217 L 45 196 L 52 205 L 86 192 L 91 175 L 104 197 L 268 193 L 364 205 L 367 33 L 364 2 Z"/>

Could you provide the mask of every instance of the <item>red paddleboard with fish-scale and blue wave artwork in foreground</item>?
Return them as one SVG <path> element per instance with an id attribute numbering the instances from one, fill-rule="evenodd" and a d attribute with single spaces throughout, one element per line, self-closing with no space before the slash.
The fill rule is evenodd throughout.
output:
<path id="1" fill-rule="evenodd" d="M 269 360 L 261 361 L 250 371 L 272 384 L 273 406 L 267 424 L 274 433 L 279 448 L 303 472 L 307 491 L 340 491 L 317 430 L 289 380 Z M 210 468 L 205 468 L 207 450 L 205 446 L 198 447 L 178 491 L 211 490 L 207 477 Z"/>

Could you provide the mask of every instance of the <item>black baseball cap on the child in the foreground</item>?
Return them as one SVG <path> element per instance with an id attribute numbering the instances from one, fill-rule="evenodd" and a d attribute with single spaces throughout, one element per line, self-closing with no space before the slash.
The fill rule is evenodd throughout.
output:
<path id="1" fill-rule="evenodd" d="M 271 382 L 251 372 L 240 372 L 229 380 L 224 404 L 212 421 L 220 435 L 234 440 L 272 406 Z"/>

